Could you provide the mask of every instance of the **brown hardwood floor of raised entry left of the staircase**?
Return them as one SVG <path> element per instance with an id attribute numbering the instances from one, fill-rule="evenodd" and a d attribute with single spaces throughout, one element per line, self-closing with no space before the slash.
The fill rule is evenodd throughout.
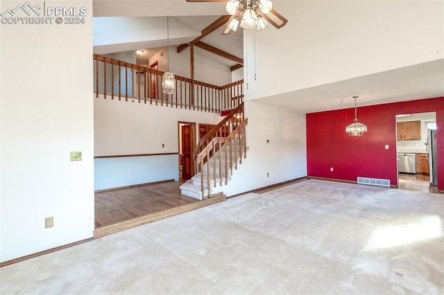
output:
<path id="1" fill-rule="evenodd" d="M 180 182 L 167 181 L 95 193 L 96 229 L 199 202 L 181 195 L 180 185 Z"/>

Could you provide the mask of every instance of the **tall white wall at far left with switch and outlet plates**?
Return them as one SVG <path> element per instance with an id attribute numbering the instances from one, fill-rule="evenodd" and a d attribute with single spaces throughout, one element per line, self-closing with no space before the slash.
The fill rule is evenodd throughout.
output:
<path id="1" fill-rule="evenodd" d="M 86 7 L 85 24 L 0 24 L 1 262 L 94 231 L 92 1 L 48 6 Z"/>

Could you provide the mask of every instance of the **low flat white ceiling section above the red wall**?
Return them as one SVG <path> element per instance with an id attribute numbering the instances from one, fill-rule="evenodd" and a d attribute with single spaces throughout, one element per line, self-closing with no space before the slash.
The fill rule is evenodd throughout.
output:
<path id="1" fill-rule="evenodd" d="M 444 60 L 375 73 L 278 96 L 259 102 L 305 113 L 444 96 Z"/>

